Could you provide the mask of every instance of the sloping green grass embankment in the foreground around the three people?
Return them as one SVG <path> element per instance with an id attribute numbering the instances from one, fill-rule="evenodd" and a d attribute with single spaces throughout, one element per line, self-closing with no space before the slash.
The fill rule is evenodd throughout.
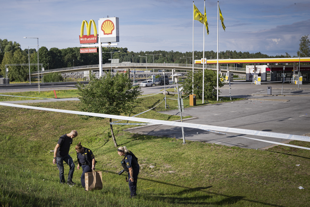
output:
<path id="1" fill-rule="evenodd" d="M 27 105 L 77 110 L 76 103 Z M 142 104 L 135 113 L 149 107 Z M 154 111 L 143 116 L 154 118 L 155 114 L 156 119 L 179 119 Z M 124 175 L 117 174 L 122 169 L 121 157 L 110 139 L 108 120 L 82 120 L 72 114 L 5 106 L 0 106 L 0 116 L 2 206 L 310 205 L 307 150 L 279 146 L 261 151 L 201 142 L 183 145 L 182 139 L 127 133 L 122 131 L 126 126 L 114 125 L 118 145 L 126 146 L 139 158 L 138 196 L 129 199 L 128 183 Z M 50 150 L 72 129 L 78 130 L 79 136 L 69 153 L 77 165 L 74 146 L 78 142 L 94 152 L 96 170 L 103 172 L 102 190 L 84 191 L 81 169 L 73 175 L 76 186 L 59 184 Z M 308 142 L 295 144 L 309 147 Z M 65 175 L 68 171 L 65 165 Z M 305 189 L 299 190 L 299 186 Z"/>

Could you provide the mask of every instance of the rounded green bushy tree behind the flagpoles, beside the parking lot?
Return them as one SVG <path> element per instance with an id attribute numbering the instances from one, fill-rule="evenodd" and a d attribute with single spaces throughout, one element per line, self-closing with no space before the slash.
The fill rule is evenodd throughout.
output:
<path id="1" fill-rule="evenodd" d="M 188 72 L 188 77 L 184 80 L 183 92 L 186 94 L 191 94 L 193 91 L 193 79 L 192 79 L 192 71 Z M 202 72 L 194 72 L 194 94 L 197 98 L 202 99 Z M 219 79 L 219 87 L 224 86 L 224 82 Z M 213 70 L 205 70 L 205 87 L 204 87 L 205 99 L 215 98 L 217 91 L 217 81 L 216 81 L 216 71 Z M 220 93 L 220 91 L 219 91 Z"/>

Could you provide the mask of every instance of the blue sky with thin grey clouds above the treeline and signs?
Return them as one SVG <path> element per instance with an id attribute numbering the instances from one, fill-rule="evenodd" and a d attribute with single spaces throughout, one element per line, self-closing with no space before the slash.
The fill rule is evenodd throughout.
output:
<path id="1" fill-rule="evenodd" d="M 192 0 L 0 0 L 0 38 L 22 47 L 80 47 L 83 20 L 119 18 L 120 42 L 128 51 L 193 50 Z M 203 12 L 204 1 L 194 1 Z M 219 51 L 297 55 L 299 40 L 310 34 L 308 0 L 222 0 Z M 217 51 L 217 1 L 206 0 L 209 35 L 205 51 Z M 97 25 L 98 29 L 98 25 Z M 86 33 L 85 33 L 86 34 Z M 93 33 L 92 33 L 93 34 Z M 36 47 L 34 47 L 36 48 Z M 203 50 L 203 24 L 194 21 L 194 50 Z"/>

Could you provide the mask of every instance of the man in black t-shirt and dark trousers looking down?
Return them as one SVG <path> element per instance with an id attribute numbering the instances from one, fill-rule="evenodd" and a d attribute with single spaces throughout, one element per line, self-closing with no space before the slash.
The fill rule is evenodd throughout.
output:
<path id="1" fill-rule="evenodd" d="M 73 163 L 72 157 L 69 155 L 70 145 L 72 144 L 72 139 L 78 136 L 76 130 L 72 130 L 69 134 L 62 135 L 54 149 L 54 159 L 53 164 L 57 163 L 59 169 L 59 179 L 60 183 L 64 184 L 64 161 L 69 165 L 69 174 L 68 174 L 68 185 L 75 185 L 75 182 L 72 182 L 73 172 L 75 164 Z"/>

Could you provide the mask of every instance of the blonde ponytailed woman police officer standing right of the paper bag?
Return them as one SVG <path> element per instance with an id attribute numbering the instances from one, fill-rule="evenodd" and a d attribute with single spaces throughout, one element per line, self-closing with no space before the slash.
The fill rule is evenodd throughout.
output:
<path id="1" fill-rule="evenodd" d="M 130 190 L 130 198 L 134 198 L 137 195 L 137 179 L 140 170 L 138 158 L 136 158 L 131 151 L 127 150 L 126 146 L 119 147 L 117 149 L 117 153 L 118 155 L 123 156 L 122 166 L 127 172 L 129 172 L 128 185 Z"/>

